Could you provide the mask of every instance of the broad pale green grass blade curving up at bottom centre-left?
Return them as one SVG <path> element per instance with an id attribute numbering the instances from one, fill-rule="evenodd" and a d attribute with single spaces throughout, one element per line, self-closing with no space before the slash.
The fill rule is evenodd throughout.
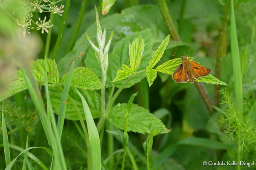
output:
<path id="1" fill-rule="evenodd" d="M 93 116 L 91 115 L 87 102 L 85 101 L 84 97 L 81 95 L 81 93 L 77 89 L 76 89 L 76 92 L 81 97 L 83 107 L 84 107 L 84 114 L 86 117 L 86 124 L 87 124 L 87 129 L 89 134 L 90 153 L 92 158 L 93 170 L 100 170 L 101 157 L 100 157 L 99 133 L 93 121 Z"/>

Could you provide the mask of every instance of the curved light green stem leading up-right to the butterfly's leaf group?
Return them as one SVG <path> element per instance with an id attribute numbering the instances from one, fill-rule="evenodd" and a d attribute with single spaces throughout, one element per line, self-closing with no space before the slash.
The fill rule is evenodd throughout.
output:
<path id="1" fill-rule="evenodd" d="M 142 74 L 143 72 L 145 72 L 145 70 L 139 71 L 137 74 Z M 136 74 L 135 74 L 135 75 L 136 75 Z M 102 116 L 101 116 L 100 119 L 99 119 L 99 123 L 98 123 L 98 125 L 97 125 L 97 130 L 98 130 L 98 132 L 101 130 L 101 128 L 102 128 L 102 126 L 103 126 L 105 120 L 107 119 L 108 113 L 109 113 L 109 111 L 110 111 L 110 109 L 111 109 L 111 107 L 112 107 L 114 101 L 116 100 L 116 97 L 121 93 L 121 91 L 125 88 L 125 85 L 127 85 L 128 82 L 130 82 L 133 77 L 134 77 L 134 75 L 131 76 L 131 77 L 129 77 L 129 78 L 124 82 L 124 84 L 121 85 L 121 87 L 116 91 L 116 93 L 114 94 L 114 96 L 112 97 L 112 99 L 110 100 L 110 102 L 108 103 L 105 112 L 102 114 Z"/>

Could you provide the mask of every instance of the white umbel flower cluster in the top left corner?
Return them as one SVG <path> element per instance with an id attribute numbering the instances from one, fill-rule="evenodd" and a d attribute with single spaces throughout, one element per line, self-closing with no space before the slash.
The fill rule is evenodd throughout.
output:
<path id="1" fill-rule="evenodd" d="M 51 0 L 18 0 L 20 5 L 24 9 L 24 13 L 21 14 L 17 11 L 13 11 L 13 14 L 10 15 L 13 17 L 13 19 L 16 20 L 17 25 L 20 26 L 20 31 L 23 33 L 24 37 L 26 36 L 26 34 L 30 34 L 30 29 L 33 29 L 33 27 L 31 27 L 32 23 L 37 26 L 37 30 L 41 30 L 42 34 L 44 34 L 44 32 L 48 33 L 48 28 L 53 26 L 50 23 L 50 20 L 47 21 L 47 18 L 44 17 L 44 20 L 38 18 L 38 21 L 34 21 L 32 19 L 33 13 L 52 12 L 53 14 L 59 14 L 61 16 L 64 12 L 64 10 L 62 10 L 64 8 L 64 5 L 61 5 L 59 7 L 56 5 L 56 3 L 60 1 L 62 0 L 57 0 L 56 2 L 52 2 Z M 19 15 L 19 19 L 14 18 L 15 13 Z"/>

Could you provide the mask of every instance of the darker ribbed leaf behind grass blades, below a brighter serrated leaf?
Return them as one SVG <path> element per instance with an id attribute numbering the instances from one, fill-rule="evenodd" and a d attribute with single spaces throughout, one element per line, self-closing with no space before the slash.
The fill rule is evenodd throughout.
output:
<path id="1" fill-rule="evenodd" d="M 96 91 L 93 91 L 93 90 L 79 89 L 79 91 L 81 92 L 81 94 L 86 99 L 93 118 L 100 117 L 101 116 L 101 113 L 100 113 L 100 110 L 101 110 L 100 95 Z M 61 89 L 61 88 L 49 87 L 49 93 L 50 93 L 50 96 L 51 96 L 53 111 L 56 114 L 59 113 L 62 92 L 63 92 L 63 89 Z M 80 111 L 83 119 L 85 119 L 84 114 L 82 114 L 83 111 L 84 111 L 84 108 L 83 108 L 83 104 L 82 104 L 82 101 L 81 101 L 81 97 L 76 93 L 74 88 L 70 88 L 70 91 L 69 91 L 69 97 L 67 99 L 67 108 L 66 108 L 66 113 L 65 113 L 65 119 L 79 120 L 79 118 L 77 116 L 76 108 L 73 105 L 73 103 L 70 101 L 70 97 L 73 99 L 74 103 L 78 107 L 78 110 Z"/>

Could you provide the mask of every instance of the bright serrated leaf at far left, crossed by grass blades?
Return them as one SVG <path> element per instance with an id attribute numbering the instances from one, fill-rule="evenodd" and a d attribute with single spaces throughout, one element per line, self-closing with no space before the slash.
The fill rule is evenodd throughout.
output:
<path id="1" fill-rule="evenodd" d="M 44 83 L 44 77 L 46 75 L 44 69 L 44 59 L 37 59 L 36 61 L 32 61 L 29 66 L 31 68 L 33 76 L 35 77 L 35 80 L 38 82 L 39 85 L 42 85 Z M 48 82 L 57 85 L 59 83 L 59 75 L 54 60 L 47 59 L 47 71 Z M 6 91 L 6 93 L 0 94 L 0 101 L 26 89 L 26 82 L 23 78 L 21 70 L 15 71 L 15 76 L 13 81 L 11 82 L 11 85 L 9 86 L 9 89 Z"/>

